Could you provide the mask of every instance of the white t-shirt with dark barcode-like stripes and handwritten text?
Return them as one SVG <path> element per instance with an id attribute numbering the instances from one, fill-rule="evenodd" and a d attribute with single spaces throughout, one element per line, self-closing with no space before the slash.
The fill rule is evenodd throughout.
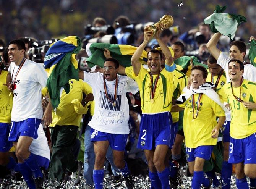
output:
<path id="1" fill-rule="evenodd" d="M 139 88 L 133 79 L 118 75 L 118 90 L 115 106 L 107 99 L 104 91 L 103 74 L 84 72 L 84 82 L 92 87 L 95 100 L 94 115 L 88 123 L 91 128 L 112 134 L 129 134 L 129 105 L 126 92 L 135 94 Z M 115 94 L 115 82 L 107 81 L 107 91 L 113 101 Z"/>

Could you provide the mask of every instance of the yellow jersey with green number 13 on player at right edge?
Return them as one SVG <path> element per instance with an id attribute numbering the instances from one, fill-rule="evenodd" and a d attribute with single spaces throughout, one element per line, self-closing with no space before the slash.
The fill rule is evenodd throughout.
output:
<path id="1" fill-rule="evenodd" d="M 241 89 L 241 93 L 240 93 Z M 233 94 L 245 102 L 256 103 L 256 83 L 243 80 L 241 87 L 233 87 L 225 84 L 219 95 L 225 102 L 229 103 L 231 109 L 230 136 L 234 139 L 243 139 L 256 132 L 256 110 L 245 108 L 243 103 L 235 99 Z"/>

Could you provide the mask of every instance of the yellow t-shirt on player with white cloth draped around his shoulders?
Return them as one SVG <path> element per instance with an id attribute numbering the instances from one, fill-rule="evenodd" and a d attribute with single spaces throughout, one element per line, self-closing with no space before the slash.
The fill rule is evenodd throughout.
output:
<path id="1" fill-rule="evenodd" d="M 194 94 L 194 115 L 196 115 L 199 94 Z M 199 103 L 199 112 L 193 119 L 192 96 L 183 104 L 184 109 L 183 128 L 185 143 L 188 148 L 196 148 L 203 145 L 216 145 L 217 139 L 211 137 L 212 129 L 217 125 L 216 117 L 225 116 L 224 111 L 216 102 L 202 94 Z"/>

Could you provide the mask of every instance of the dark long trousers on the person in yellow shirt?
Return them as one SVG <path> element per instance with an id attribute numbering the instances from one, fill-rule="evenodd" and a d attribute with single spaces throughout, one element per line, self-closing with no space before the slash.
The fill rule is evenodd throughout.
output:
<path id="1" fill-rule="evenodd" d="M 58 126 L 51 128 L 52 156 L 50 160 L 49 179 L 61 181 L 66 169 L 75 172 L 78 163 L 72 148 L 76 141 L 78 126 Z"/>

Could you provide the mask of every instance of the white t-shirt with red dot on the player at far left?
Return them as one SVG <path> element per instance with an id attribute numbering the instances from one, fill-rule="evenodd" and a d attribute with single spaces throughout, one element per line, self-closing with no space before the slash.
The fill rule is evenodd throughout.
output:
<path id="1" fill-rule="evenodd" d="M 8 71 L 11 73 L 12 80 L 15 79 L 18 68 L 19 66 L 11 62 Z M 44 68 L 39 63 L 26 59 L 14 84 L 11 121 L 42 118 L 41 90 L 42 86 L 46 86 L 46 82 L 47 73 Z"/>

